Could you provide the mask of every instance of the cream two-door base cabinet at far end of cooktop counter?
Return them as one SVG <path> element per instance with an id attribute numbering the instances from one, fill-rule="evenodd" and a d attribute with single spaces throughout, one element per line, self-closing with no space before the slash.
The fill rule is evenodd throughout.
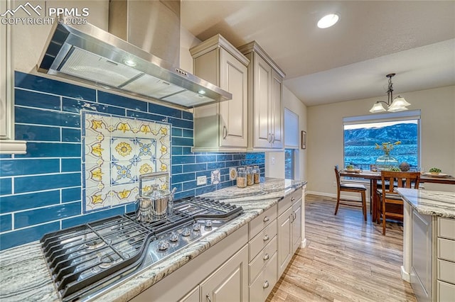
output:
<path id="1" fill-rule="evenodd" d="M 278 203 L 278 275 L 281 276 L 301 242 L 302 190 Z"/>

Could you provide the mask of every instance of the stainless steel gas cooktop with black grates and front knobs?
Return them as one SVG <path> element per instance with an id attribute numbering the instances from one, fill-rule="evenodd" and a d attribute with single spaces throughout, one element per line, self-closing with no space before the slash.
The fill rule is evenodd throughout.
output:
<path id="1" fill-rule="evenodd" d="M 208 198 L 174 201 L 173 215 L 152 223 L 134 213 L 49 233 L 41 246 L 63 301 L 90 301 L 143 269 L 200 240 L 242 207 Z"/>

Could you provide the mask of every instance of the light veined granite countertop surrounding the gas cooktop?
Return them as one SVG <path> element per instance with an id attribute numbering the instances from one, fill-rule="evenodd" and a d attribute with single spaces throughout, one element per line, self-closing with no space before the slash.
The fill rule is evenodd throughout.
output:
<path id="1" fill-rule="evenodd" d="M 210 246 L 276 205 L 306 184 L 289 179 L 262 179 L 261 184 L 220 189 L 203 196 L 242 206 L 244 213 L 198 242 L 155 264 L 108 291 L 97 301 L 128 301 L 176 271 Z M 0 301 L 60 301 L 38 241 L 0 252 Z"/>

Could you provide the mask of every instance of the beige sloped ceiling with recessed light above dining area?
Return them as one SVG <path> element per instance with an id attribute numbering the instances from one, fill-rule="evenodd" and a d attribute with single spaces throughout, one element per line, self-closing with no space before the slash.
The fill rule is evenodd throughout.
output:
<path id="1" fill-rule="evenodd" d="M 316 23 L 336 12 L 326 29 Z M 455 84 L 455 1 L 181 1 L 181 26 L 200 40 L 252 40 L 286 72 L 306 106 Z M 383 98 L 384 99 L 384 98 Z"/>

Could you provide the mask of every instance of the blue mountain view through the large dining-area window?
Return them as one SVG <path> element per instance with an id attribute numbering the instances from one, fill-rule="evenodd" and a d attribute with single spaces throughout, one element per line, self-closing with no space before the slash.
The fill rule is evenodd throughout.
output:
<path id="1" fill-rule="evenodd" d="M 346 164 L 358 164 L 365 169 L 384 152 L 375 149 L 375 144 L 382 142 L 397 142 L 390 151 L 390 156 L 398 162 L 408 162 L 411 167 L 418 164 L 418 130 L 417 120 L 403 122 L 384 122 L 363 125 L 345 125 L 344 128 L 344 162 Z M 363 127 L 365 126 L 365 127 Z"/>

